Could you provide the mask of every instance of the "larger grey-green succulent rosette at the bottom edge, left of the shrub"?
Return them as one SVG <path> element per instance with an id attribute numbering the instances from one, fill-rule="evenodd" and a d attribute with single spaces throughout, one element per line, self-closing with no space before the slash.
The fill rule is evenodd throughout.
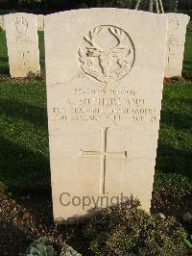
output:
<path id="1" fill-rule="evenodd" d="M 57 252 L 50 245 L 48 238 L 43 237 L 30 245 L 26 251 L 26 256 L 57 256 Z"/>

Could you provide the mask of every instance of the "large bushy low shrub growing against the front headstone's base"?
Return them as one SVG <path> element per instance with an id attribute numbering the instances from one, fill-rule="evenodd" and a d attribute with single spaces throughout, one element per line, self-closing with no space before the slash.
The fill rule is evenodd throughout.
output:
<path id="1" fill-rule="evenodd" d="M 90 255 L 186 255 L 186 233 L 176 219 L 151 216 L 139 206 L 130 198 L 90 219 L 84 231 Z"/>

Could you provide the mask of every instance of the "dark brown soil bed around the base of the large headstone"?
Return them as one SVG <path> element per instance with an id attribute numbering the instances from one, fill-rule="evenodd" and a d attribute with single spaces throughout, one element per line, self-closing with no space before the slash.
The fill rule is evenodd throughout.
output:
<path id="1" fill-rule="evenodd" d="M 30 192 L 29 192 L 30 191 Z M 184 224 L 181 216 L 192 214 L 192 194 L 172 191 L 153 192 L 152 214 L 174 216 L 192 233 L 192 225 Z M 39 237 L 47 236 L 57 248 L 63 241 L 80 253 L 84 252 L 81 230 L 84 226 L 57 226 L 53 222 L 51 191 L 44 189 L 17 192 L 16 196 L 0 191 L 0 255 L 22 256 Z"/>

